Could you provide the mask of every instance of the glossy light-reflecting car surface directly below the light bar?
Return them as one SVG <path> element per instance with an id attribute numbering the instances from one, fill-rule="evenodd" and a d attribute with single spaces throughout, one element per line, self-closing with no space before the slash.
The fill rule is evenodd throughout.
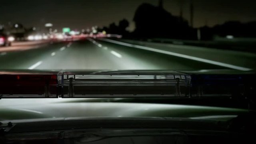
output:
<path id="1" fill-rule="evenodd" d="M 0 120 L 70 117 L 179 117 L 229 120 L 248 112 L 236 108 L 104 101 L 108 100 L 3 99 L 0 106 Z"/>

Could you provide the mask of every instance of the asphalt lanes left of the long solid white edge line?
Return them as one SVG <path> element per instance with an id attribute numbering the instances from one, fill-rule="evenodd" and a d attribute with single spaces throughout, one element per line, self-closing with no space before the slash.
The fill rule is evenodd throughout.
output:
<path id="1" fill-rule="evenodd" d="M 102 40 L 87 39 L 47 45 L 43 43 L 41 46 L 34 45 L 25 50 L 1 51 L 0 48 L 0 70 L 8 69 L 207 70 L 230 68 Z"/>

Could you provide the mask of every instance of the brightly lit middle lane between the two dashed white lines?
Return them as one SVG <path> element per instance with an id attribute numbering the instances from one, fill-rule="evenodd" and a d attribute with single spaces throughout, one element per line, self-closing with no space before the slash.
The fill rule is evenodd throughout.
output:
<path id="1" fill-rule="evenodd" d="M 36 69 L 137 70 L 156 67 L 146 62 L 134 62 L 134 59 L 120 60 L 108 50 L 86 40 L 72 42 L 71 46 L 58 50 L 54 56 L 42 59 Z"/>

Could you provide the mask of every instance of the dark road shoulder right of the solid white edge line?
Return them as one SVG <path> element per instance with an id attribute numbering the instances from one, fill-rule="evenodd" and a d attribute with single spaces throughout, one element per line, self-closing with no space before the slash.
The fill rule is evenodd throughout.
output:
<path id="1" fill-rule="evenodd" d="M 188 46 L 183 44 L 163 44 L 156 42 L 141 42 L 136 40 L 120 40 L 130 44 L 137 44 L 156 48 L 165 51 L 176 52 L 179 54 L 186 54 L 198 58 L 224 62 L 236 66 L 256 69 L 256 54 L 250 52 L 234 51 L 234 50 L 220 50 L 216 48 L 206 48 L 199 46 Z M 239 59 L 239 60 L 238 60 Z"/>

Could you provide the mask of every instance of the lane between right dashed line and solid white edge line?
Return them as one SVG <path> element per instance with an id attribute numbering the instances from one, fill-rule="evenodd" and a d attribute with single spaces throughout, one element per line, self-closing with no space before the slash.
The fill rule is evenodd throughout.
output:
<path id="1" fill-rule="evenodd" d="M 148 50 L 141 50 L 128 46 L 122 46 L 109 42 L 96 40 L 97 44 L 102 45 L 102 49 L 108 48 L 108 51 L 117 52 L 122 56 L 117 61 L 118 64 L 123 62 L 131 62 L 138 64 L 148 64 L 152 69 L 156 70 L 204 70 L 204 69 L 229 69 L 222 66 L 180 58 L 177 56 L 170 56 Z M 123 63 L 124 64 L 124 63 Z M 129 66 L 129 65 L 127 65 Z M 141 69 L 141 68 L 139 68 Z M 150 69 L 150 68 L 149 68 Z"/>

